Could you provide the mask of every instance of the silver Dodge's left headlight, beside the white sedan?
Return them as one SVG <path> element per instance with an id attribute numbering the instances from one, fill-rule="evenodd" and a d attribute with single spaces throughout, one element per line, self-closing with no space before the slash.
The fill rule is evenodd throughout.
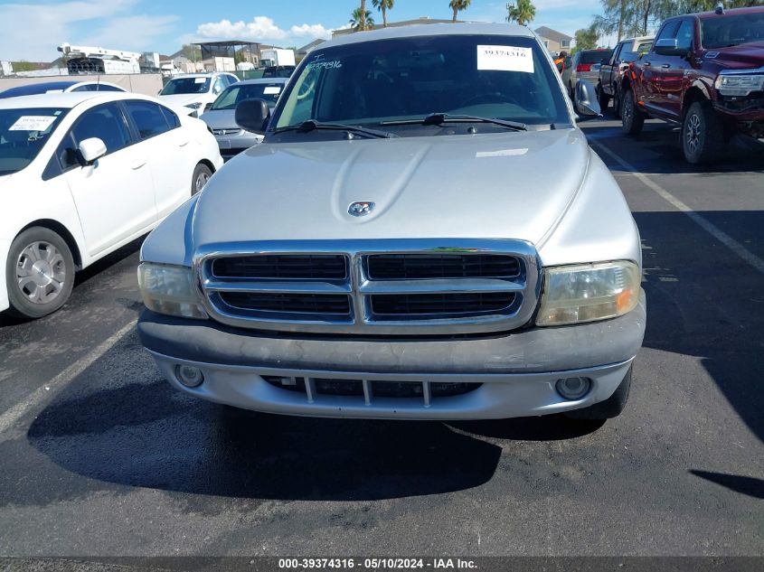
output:
<path id="1" fill-rule="evenodd" d="M 196 297 L 190 267 L 144 262 L 138 267 L 138 286 L 143 303 L 153 312 L 197 320 L 208 317 Z"/>

